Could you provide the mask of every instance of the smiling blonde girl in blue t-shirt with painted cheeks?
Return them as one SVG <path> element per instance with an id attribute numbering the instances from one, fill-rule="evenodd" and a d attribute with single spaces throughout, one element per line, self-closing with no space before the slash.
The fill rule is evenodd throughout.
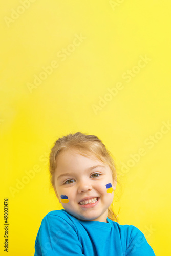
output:
<path id="1" fill-rule="evenodd" d="M 116 222 L 116 169 L 98 137 L 78 132 L 59 138 L 50 153 L 50 174 L 64 209 L 42 220 L 35 256 L 155 255 L 137 227 Z"/>

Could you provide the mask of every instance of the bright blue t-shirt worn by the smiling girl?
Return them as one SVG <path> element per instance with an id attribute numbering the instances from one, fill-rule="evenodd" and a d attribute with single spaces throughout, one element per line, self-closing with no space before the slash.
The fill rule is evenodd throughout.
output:
<path id="1" fill-rule="evenodd" d="M 155 256 L 144 234 L 133 225 L 81 221 L 66 210 L 54 210 L 42 219 L 35 256 Z"/>

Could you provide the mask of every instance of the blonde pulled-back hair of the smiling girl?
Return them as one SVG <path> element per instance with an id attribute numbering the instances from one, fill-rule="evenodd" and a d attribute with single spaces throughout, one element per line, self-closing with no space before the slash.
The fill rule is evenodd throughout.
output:
<path id="1" fill-rule="evenodd" d="M 59 155 L 59 153 L 69 148 L 77 149 L 83 156 L 96 156 L 101 162 L 108 164 L 112 171 L 113 180 L 117 181 L 114 160 L 111 156 L 111 153 L 109 152 L 109 150 L 107 150 L 102 141 L 95 135 L 87 135 L 81 132 L 77 132 L 75 134 L 70 133 L 66 136 L 63 136 L 62 138 L 59 138 L 58 140 L 56 140 L 54 146 L 51 149 L 49 157 L 49 170 L 51 176 L 51 184 L 54 190 L 54 172 L 57 167 L 57 156 Z M 108 208 L 108 218 L 113 221 L 119 222 L 118 215 L 115 214 L 111 205 Z"/>

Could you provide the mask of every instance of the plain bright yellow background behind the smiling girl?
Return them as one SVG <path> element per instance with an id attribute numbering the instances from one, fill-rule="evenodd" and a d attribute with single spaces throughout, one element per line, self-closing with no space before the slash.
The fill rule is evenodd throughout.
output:
<path id="1" fill-rule="evenodd" d="M 60 209 L 49 183 L 50 148 L 77 131 L 97 135 L 114 156 L 120 224 L 144 232 L 156 255 L 171 254 L 171 130 L 160 132 L 171 122 L 170 7 L 166 0 L 1 3 L 1 255 L 4 198 L 8 255 L 34 255 L 42 218 Z M 135 67 L 145 56 L 145 66 Z M 42 74 L 51 63 L 53 72 Z M 125 78 L 129 70 L 131 80 Z M 46 79 L 35 86 L 39 75 Z M 119 82 L 122 89 L 112 96 L 108 88 Z M 152 148 L 150 136 L 158 138 Z M 123 163 L 140 148 L 145 155 L 123 174 Z M 12 194 L 33 168 L 39 172 Z"/>

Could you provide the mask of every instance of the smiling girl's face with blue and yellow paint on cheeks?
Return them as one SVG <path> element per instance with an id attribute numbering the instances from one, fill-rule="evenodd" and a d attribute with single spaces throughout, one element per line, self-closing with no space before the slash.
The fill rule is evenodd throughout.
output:
<path id="1" fill-rule="evenodd" d="M 57 157 L 54 175 L 56 196 L 67 212 L 80 220 L 106 222 L 116 189 L 108 165 L 66 150 Z"/>

